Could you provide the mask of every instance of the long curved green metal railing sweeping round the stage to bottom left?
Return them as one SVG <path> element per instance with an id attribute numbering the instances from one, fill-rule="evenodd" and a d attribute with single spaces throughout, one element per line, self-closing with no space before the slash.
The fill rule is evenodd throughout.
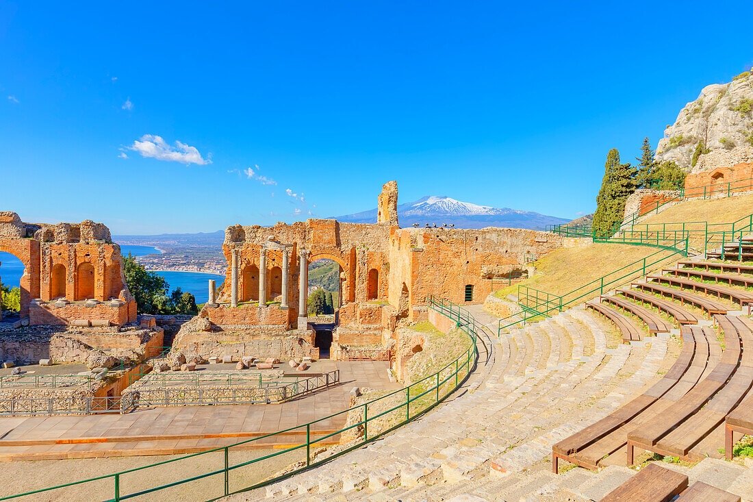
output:
<path id="1" fill-rule="evenodd" d="M 275 433 L 237 442 L 233 445 L 214 448 L 193 455 L 184 455 L 144 467 L 136 467 L 81 481 L 27 491 L 8 497 L 0 497 L 0 500 L 11 500 L 19 497 L 29 497 L 29 500 L 38 500 L 40 496 L 66 498 L 66 495 L 60 492 L 66 488 L 81 488 L 87 491 L 90 499 L 104 499 L 108 500 L 108 502 L 130 500 L 155 492 L 160 492 L 160 495 L 163 497 L 171 497 L 172 495 L 172 498 L 175 500 L 188 500 L 188 496 L 195 495 L 200 495 L 200 499 L 197 500 L 217 500 L 228 494 L 259 488 L 280 479 L 285 479 L 295 473 L 300 473 L 310 467 L 324 464 L 425 414 L 462 385 L 475 369 L 478 360 L 476 347 L 478 337 L 474 317 L 459 305 L 434 296 L 429 298 L 428 307 L 453 321 L 459 329 L 468 335 L 471 339 L 471 345 L 468 350 L 465 350 L 464 354 L 457 357 L 453 362 L 407 387 L 394 390 L 385 396 L 380 396 L 367 403 L 337 412 L 334 415 L 319 418 L 307 424 L 279 430 Z M 348 423 L 348 418 L 352 418 L 352 414 L 358 409 L 361 409 L 360 412 L 357 412 L 361 418 L 340 430 L 330 432 L 328 430 L 316 430 L 315 428 L 317 426 L 324 428 L 337 417 Z M 328 441 L 334 441 L 338 436 L 346 434 L 355 436 L 355 439 L 349 442 L 346 448 L 337 451 L 337 453 L 324 460 L 316 460 L 312 456 L 313 449 L 326 445 Z M 248 448 L 251 448 L 254 444 L 270 448 L 270 439 L 296 435 L 305 436 L 305 441 L 289 447 L 286 446 L 279 449 L 279 451 L 274 451 L 270 455 L 251 459 L 243 458 L 243 455 L 248 455 Z M 296 462 L 297 459 L 289 458 L 289 454 L 293 452 L 300 454 L 300 467 L 295 467 L 284 474 L 270 476 L 270 473 L 279 469 L 279 465 L 275 467 L 279 462 L 284 461 L 288 464 Z M 237 462 L 231 461 L 231 457 L 233 456 L 236 457 Z M 185 463 L 188 463 L 188 465 Z M 248 469 L 252 467 L 266 473 L 266 476 L 268 476 L 267 479 L 248 482 L 248 473 L 245 473 L 244 468 Z M 186 473 L 191 473 L 192 469 L 194 472 L 197 469 L 203 469 L 206 472 L 184 477 Z M 171 476 L 177 476 L 178 479 L 168 481 Z M 145 487 L 145 485 L 148 485 L 154 479 L 160 479 L 160 482 L 164 484 Z M 128 482 L 134 480 L 134 484 L 140 486 L 137 488 L 131 487 L 129 490 Z M 202 481 L 205 482 L 204 485 L 197 485 Z M 171 488 L 175 490 L 182 489 L 184 491 L 180 495 L 175 494 L 174 491 L 171 494 Z M 102 492 L 102 496 L 100 496 L 98 491 Z M 104 493 L 107 493 L 107 495 Z"/>

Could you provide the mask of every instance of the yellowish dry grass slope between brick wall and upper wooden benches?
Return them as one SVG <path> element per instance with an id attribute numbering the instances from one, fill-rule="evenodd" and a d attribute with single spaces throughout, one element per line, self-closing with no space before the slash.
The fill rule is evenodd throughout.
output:
<path id="1" fill-rule="evenodd" d="M 561 247 L 554 249 L 551 253 L 536 261 L 534 277 L 530 277 L 520 284 L 554 295 L 564 295 L 599 279 L 599 277 L 656 253 L 657 250 L 657 248 L 649 246 L 612 243 L 596 243 L 575 248 Z M 675 256 L 680 257 L 680 255 Z M 614 276 L 614 278 L 617 277 L 619 276 Z M 621 286 L 636 277 L 638 276 L 627 277 L 622 284 L 614 284 L 610 286 L 610 289 Z M 517 284 L 500 289 L 495 292 L 495 295 L 499 298 L 505 298 L 506 295 L 511 293 L 517 294 Z M 597 291 L 591 298 L 598 294 Z M 587 299 L 590 298 L 582 298 L 581 302 L 585 302 Z"/>

